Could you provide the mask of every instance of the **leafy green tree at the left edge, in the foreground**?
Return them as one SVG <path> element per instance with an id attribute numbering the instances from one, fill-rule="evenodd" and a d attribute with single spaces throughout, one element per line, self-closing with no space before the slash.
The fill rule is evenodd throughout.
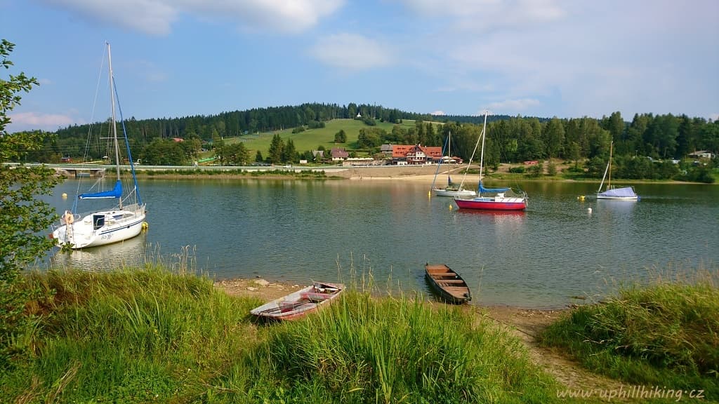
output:
<path id="1" fill-rule="evenodd" d="M 13 65 L 7 59 L 13 49 L 11 42 L 0 42 L 0 65 L 6 69 Z M 52 135 L 37 131 L 8 134 L 5 129 L 10 123 L 7 112 L 20 104 L 18 93 L 38 85 L 37 79 L 24 73 L 9 75 L 9 80 L 0 78 L 0 162 L 20 163 L 0 165 L 0 369 L 21 353 L 12 340 L 26 340 L 17 336 L 32 327 L 24 308 L 33 292 L 17 287 L 22 282 L 19 275 L 35 257 L 55 245 L 44 232 L 58 215 L 36 196 L 50 195 L 62 179 L 44 165 L 22 164 L 28 152 L 41 150 Z"/>

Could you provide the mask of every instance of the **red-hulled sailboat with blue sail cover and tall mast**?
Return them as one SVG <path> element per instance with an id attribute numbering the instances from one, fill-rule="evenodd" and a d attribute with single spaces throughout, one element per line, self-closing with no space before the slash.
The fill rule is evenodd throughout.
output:
<path id="1" fill-rule="evenodd" d="M 523 211 L 527 208 L 527 194 L 523 190 L 512 188 L 485 188 L 482 184 L 482 168 L 485 160 L 485 137 L 487 137 L 487 111 L 482 134 L 477 138 L 475 150 L 482 139 L 482 152 L 480 153 L 480 183 L 475 198 L 454 198 L 454 203 L 460 209 L 483 209 L 490 211 Z"/>

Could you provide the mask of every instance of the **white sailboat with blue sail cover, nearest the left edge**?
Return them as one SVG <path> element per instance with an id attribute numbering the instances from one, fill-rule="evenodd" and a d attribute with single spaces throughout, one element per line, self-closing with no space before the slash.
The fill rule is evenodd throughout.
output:
<path id="1" fill-rule="evenodd" d="M 122 171 L 120 170 L 120 147 L 117 134 L 116 122 L 116 101 L 117 93 L 115 90 L 114 76 L 112 74 L 112 58 L 110 52 L 110 44 L 106 43 L 107 59 L 109 65 L 109 86 L 110 86 L 110 104 L 111 104 L 111 121 L 110 121 L 110 137 L 109 140 L 114 147 L 115 162 L 115 183 L 111 190 L 99 190 L 104 178 L 100 178 L 90 190 L 94 192 L 81 193 L 75 198 L 72 210 L 65 211 L 60 219 L 60 224 L 52 231 L 50 237 L 58 240 L 61 246 L 70 247 L 72 249 L 81 249 L 86 247 L 96 247 L 104 244 L 122 242 L 131 239 L 140 234 L 143 228 L 147 227 L 145 222 L 145 203 L 139 196 L 137 188 L 137 177 L 135 175 L 132 155 L 130 153 L 129 142 L 127 140 L 127 132 L 122 124 L 122 109 L 120 111 L 120 124 L 122 124 L 122 140 L 124 148 L 127 151 L 127 160 L 129 160 L 130 173 L 132 173 L 132 183 L 126 180 L 127 185 L 123 184 Z M 117 103 L 119 104 L 119 102 Z M 118 105 L 119 108 L 119 105 Z M 97 187 L 97 188 L 96 188 Z M 79 187 L 78 187 L 79 188 Z M 115 205 L 106 210 L 92 211 L 89 214 L 77 214 L 78 201 L 93 201 L 97 199 L 114 199 Z"/>

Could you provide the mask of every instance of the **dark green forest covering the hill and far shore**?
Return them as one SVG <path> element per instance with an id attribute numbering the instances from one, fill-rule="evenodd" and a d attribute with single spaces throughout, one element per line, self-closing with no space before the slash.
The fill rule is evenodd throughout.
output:
<path id="1" fill-rule="evenodd" d="M 386 143 L 442 146 L 451 132 L 452 154 L 467 160 L 481 133 L 483 116 L 433 116 L 368 104 L 315 103 L 212 116 L 143 120 L 133 117 L 123 124 L 133 154 L 142 159 L 143 164 L 191 165 L 201 153 L 214 150 L 219 162 L 246 165 L 250 161 L 286 163 L 311 158 L 311 150 L 295 150 L 291 139 L 282 139 L 276 132 L 293 129 L 293 134 L 303 136 L 311 132 L 305 129 L 324 127 L 324 123 L 332 119 L 364 122 L 356 142 L 353 139 L 347 142 L 344 132 L 335 136 L 338 146 L 352 155 L 377 156 L 380 145 Z M 414 126 L 399 125 L 405 120 L 415 121 Z M 377 122 L 393 125 L 385 130 Z M 75 157 L 77 161 L 87 155 L 88 159 L 99 160 L 104 157 L 104 149 L 100 143 L 87 142 L 90 130 L 89 125 L 59 129 L 50 144 L 29 158 L 37 162 L 58 162 L 63 157 Z M 249 150 L 242 142 L 237 144 L 236 139 L 258 132 L 275 132 L 270 150 Z M 577 170 L 593 177 L 603 170 L 612 142 L 618 178 L 711 177 L 709 173 L 716 159 L 701 162 L 700 167 L 695 167 L 695 160 L 683 164 L 677 160 L 686 160 L 697 150 L 716 155 L 719 121 L 672 114 L 635 114 L 631 121 L 625 121 L 619 112 L 601 119 L 492 115 L 487 119 L 485 154 L 490 165 L 549 159 L 577 162 Z M 266 157 L 262 157 L 263 154 Z"/>

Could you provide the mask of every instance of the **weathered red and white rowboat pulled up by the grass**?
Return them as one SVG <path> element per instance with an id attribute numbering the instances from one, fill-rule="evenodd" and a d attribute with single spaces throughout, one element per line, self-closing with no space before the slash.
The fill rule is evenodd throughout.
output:
<path id="1" fill-rule="evenodd" d="M 329 304 L 342 293 L 342 290 L 344 285 L 340 283 L 315 282 L 306 288 L 253 308 L 249 313 L 267 320 L 294 320 L 316 311 L 322 305 Z"/>

